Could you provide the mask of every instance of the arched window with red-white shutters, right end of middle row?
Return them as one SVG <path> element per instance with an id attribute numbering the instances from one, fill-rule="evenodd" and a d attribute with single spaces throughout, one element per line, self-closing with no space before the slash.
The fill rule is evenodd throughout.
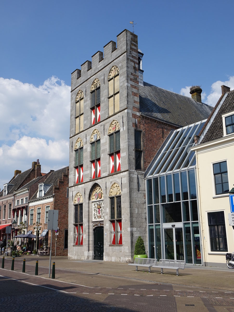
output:
<path id="1" fill-rule="evenodd" d="M 108 129 L 110 173 L 120 171 L 120 127 L 117 120 L 113 120 Z"/>

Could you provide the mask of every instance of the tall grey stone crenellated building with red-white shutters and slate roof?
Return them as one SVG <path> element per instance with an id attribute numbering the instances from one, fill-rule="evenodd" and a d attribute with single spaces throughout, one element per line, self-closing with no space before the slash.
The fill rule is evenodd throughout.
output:
<path id="1" fill-rule="evenodd" d="M 147 245 L 144 170 L 171 129 L 211 107 L 143 81 L 138 37 L 127 30 L 71 74 L 69 259 L 132 261 Z"/>

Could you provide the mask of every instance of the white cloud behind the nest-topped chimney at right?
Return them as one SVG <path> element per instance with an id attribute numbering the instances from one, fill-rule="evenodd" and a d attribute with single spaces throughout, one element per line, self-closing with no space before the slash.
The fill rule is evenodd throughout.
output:
<path id="1" fill-rule="evenodd" d="M 202 102 L 215 106 L 218 99 L 220 98 L 222 92 L 221 92 L 221 85 L 227 85 L 230 87 L 231 90 L 234 89 L 234 76 L 230 76 L 227 81 L 216 81 L 211 85 L 211 92 L 206 95 L 206 92 L 202 92 Z M 188 97 L 191 97 L 190 93 L 190 86 L 186 86 L 185 88 L 182 88 L 180 90 L 180 94 L 186 95 Z"/>

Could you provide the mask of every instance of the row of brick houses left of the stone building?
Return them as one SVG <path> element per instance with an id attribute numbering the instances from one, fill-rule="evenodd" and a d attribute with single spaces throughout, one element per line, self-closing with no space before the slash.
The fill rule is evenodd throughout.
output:
<path id="1" fill-rule="evenodd" d="M 51 231 L 47 230 L 48 210 L 59 211 L 58 234 L 52 236 L 52 255 L 67 255 L 68 229 L 68 176 L 69 168 L 41 173 L 39 160 L 32 168 L 16 170 L 13 178 L 0 192 L 0 239 L 6 227 L 12 226 L 11 239 L 16 244 L 26 244 L 27 250 L 50 250 Z M 37 239 L 15 238 L 18 234 L 33 233 Z M 36 246 L 37 244 L 37 246 Z"/>

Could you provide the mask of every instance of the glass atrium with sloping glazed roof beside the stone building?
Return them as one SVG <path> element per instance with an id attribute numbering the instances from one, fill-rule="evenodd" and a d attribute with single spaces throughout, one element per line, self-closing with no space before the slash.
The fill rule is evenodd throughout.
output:
<path id="1" fill-rule="evenodd" d="M 146 170 L 149 258 L 202 264 L 196 157 L 206 120 L 171 131 Z"/>

